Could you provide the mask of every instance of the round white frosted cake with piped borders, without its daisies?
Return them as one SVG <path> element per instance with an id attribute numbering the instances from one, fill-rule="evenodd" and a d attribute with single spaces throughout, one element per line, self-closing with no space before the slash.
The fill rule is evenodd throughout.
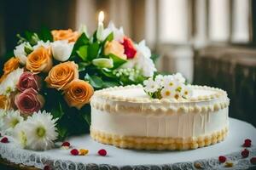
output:
<path id="1" fill-rule="evenodd" d="M 224 140 L 229 103 L 219 88 L 192 86 L 189 99 L 152 99 L 143 86 L 106 88 L 91 99 L 90 135 L 138 150 L 189 150 Z"/>

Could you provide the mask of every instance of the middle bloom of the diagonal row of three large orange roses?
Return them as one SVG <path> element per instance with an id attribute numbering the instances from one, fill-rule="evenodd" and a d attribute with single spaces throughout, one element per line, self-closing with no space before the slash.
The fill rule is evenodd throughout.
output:
<path id="1" fill-rule="evenodd" d="M 61 90 L 67 86 L 69 82 L 79 78 L 79 66 L 73 61 L 67 61 L 59 65 L 55 65 L 50 71 L 48 77 L 45 78 L 49 88 Z"/>

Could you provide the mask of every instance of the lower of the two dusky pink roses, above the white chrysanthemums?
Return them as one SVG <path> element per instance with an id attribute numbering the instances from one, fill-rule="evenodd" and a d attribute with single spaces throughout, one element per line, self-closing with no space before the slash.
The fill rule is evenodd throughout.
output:
<path id="1" fill-rule="evenodd" d="M 15 105 L 21 113 L 32 115 L 44 106 L 44 98 L 33 88 L 28 88 L 15 96 Z"/>

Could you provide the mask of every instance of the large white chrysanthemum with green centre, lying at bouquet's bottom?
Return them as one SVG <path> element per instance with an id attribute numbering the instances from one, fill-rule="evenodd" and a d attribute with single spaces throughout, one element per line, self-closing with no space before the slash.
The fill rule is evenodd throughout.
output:
<path id="1" fill-rule="evenodd" d="M 38 111 L 28 117 L 26 124 L 26 143 L 31 150 L 49 150 L 54 146 L 58 133 L 55 127 L 57 119 L 53 119 L 46 111 Z"/>

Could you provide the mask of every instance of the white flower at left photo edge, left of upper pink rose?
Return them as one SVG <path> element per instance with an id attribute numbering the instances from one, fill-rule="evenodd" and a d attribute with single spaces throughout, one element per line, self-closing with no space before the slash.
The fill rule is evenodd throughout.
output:
<path id="1" fill-rule="evenodd" d="M 9 73 L 9 75 L 0 84 L 0 95 L 7 95 L 16 90 L 16 85 L 19 82 L 23 69 L 16 69 Z"/>

